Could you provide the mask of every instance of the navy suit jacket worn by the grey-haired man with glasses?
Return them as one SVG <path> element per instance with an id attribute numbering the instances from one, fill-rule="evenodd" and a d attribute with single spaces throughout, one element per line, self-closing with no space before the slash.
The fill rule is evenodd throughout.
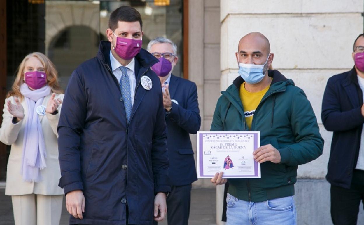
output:
<path id="1" fill-rule="evenodd" d="M 194 82 L 171 75 L 169 92 L 172 110 L 166 113 L 167 147 L 171 184 L 182 186 L 197 180 L 195 160 L 190 133 L 196 133 L 201 126 L 197 101 L 197 87 Z"/>

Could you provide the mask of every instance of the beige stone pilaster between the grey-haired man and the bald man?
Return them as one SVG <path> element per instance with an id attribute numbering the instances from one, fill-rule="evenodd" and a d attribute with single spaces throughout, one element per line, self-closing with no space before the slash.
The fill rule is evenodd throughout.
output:
<path id="1" fill-rule="evenodd" d="M 197 85 L 201 131 L 209 131 L 220 95 L 220 2 L 189 0 L 189 80 Z M 196 152 L 196 135 L 190 135 Z M 210 179 L 199 179 L 194 188 L 214 188 Z"/>

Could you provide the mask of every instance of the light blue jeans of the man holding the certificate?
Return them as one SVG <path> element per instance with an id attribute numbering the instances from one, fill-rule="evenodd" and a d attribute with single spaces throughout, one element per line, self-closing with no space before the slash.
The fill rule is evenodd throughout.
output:
<path id="1" fill-rule="evenodd" d="M 293 196 L 247 202 L 227 193 L 226 225 L 296 225 Z"/>

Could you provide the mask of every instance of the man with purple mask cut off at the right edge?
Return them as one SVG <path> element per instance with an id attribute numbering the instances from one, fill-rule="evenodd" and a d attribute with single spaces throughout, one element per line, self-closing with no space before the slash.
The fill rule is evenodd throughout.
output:
<path id="1" fill-rule="evenodd" d="M 327 81 L 321 118 L 333 131 L 326 179 L 331 183 L 334 225 L 356 225 L 364 203 L 364 34 L 353 46 L 355 66 Z"/>

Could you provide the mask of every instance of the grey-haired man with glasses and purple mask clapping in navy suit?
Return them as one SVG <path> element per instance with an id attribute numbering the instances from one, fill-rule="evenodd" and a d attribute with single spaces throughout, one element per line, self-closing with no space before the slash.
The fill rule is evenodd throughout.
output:
<path id="1" fill-rule="evenodd" d="M 189 134 L 201 126 L 194 82 L 172 74 L 178 62 L 177 46 L 167 38 L 155 38 L 147 50 L 159 60 L 151 69 L 161 80 L 167 124 L 169 175 L 172 191 L 167 198 L 169 225 L 187 225 L 190 213 L 191 183 L 197 180 Z"/>

